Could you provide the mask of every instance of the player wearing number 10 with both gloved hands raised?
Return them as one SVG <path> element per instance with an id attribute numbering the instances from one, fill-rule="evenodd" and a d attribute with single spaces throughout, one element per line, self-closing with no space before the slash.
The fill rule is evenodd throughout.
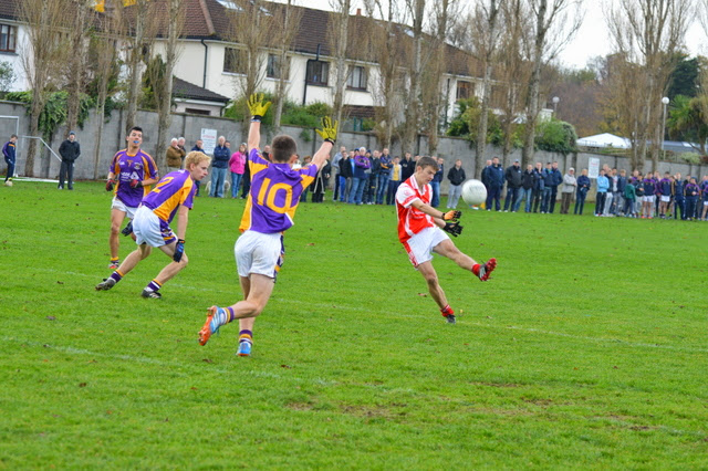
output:
<path id="1" fill-rule="evenodd" d="M 206 345 L 219 327 L 239 320 L 239 356 L 251 355 L 256 316 L 266 308 L 282 265 L 284 232 L 293 226 L 300 195 L 330 156 L 337 128 L 336 122 L 333 125 L 330 118 L 324 118 L 322 130 L 317 129 L 323 139 L 320 150 L 309 167 L 294 170 L 291 164 L 296 158 L 298 145 L 290 136 L 273 137 L 271 161 L 260 155 L 261 119 L 270 102 L 263 104 L 263 95 L 253 94 L 248 107 L 252 115 L 248 134 L 251 190 L 239 227 L 241 236 L 233 248 L 243 300 L 228 307 L 209 307 L 199 331 L 199 345 Z"/>

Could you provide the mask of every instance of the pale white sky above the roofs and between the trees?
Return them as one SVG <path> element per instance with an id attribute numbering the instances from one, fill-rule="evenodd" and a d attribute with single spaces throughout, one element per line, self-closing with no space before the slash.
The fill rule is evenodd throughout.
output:
<path id="1" fill-rule="evenodd" d="M 282 0 L 279 0 L 282 1 Z M 295 0 L 296 4 L 320 10 L 332 10 L 330 0 Z M 471 3 L 470 0 L 466 0 Z M 612 52 L 610 33 L 605 25 L 603 4 L 613 3 L 614 0 L 585 0 L 583 2 L 584 20 L 575 39 L 561 52 L 559 61 L 573 69 L 583 69 L 587 61 L 597 55 L 607 55 Z M 352 13 L 356 9 L 364 10 L 362 0 L 352 0 Z M 687 35 L 688 52 L 691 55 L 701 53 L 708 55 L 706 43 L 708 38 L 698 22 L 691 27 Z"/>

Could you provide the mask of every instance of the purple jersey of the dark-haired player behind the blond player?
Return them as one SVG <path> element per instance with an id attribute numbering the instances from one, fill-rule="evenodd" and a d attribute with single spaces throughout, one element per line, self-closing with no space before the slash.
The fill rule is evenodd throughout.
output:
<path id="1" fill-rule="evenodd" d="M 150 192 L 150 187 L 131 188 L 131 180 L 146 180 L 157 178 L 155 160 L 143 150 L 132 156 L 127 149 L 118 150 L 108 168 L 117 178 L 115 197 L 131 208 L 137 208 L 143 198 Z"/>

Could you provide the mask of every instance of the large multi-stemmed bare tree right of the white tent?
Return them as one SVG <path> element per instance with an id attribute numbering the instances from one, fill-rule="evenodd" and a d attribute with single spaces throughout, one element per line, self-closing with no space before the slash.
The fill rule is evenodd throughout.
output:
<path id="1" fill-rule="evenodd" d="M 676 52 L 684 43 L 694 12 L 694 0 L 618 0 L 607 15 L 615 50 L 627 62 L 639 65 L 641 74 L 636 78 L 644 85 L 642 108 L 633 119 L 637 146 L 635 168 L 643 169 L 649 139 L 654 143 L 653 169 L 657 167 L 664 138 L 660 136 L 662 96 L 676 66 Z"/>

